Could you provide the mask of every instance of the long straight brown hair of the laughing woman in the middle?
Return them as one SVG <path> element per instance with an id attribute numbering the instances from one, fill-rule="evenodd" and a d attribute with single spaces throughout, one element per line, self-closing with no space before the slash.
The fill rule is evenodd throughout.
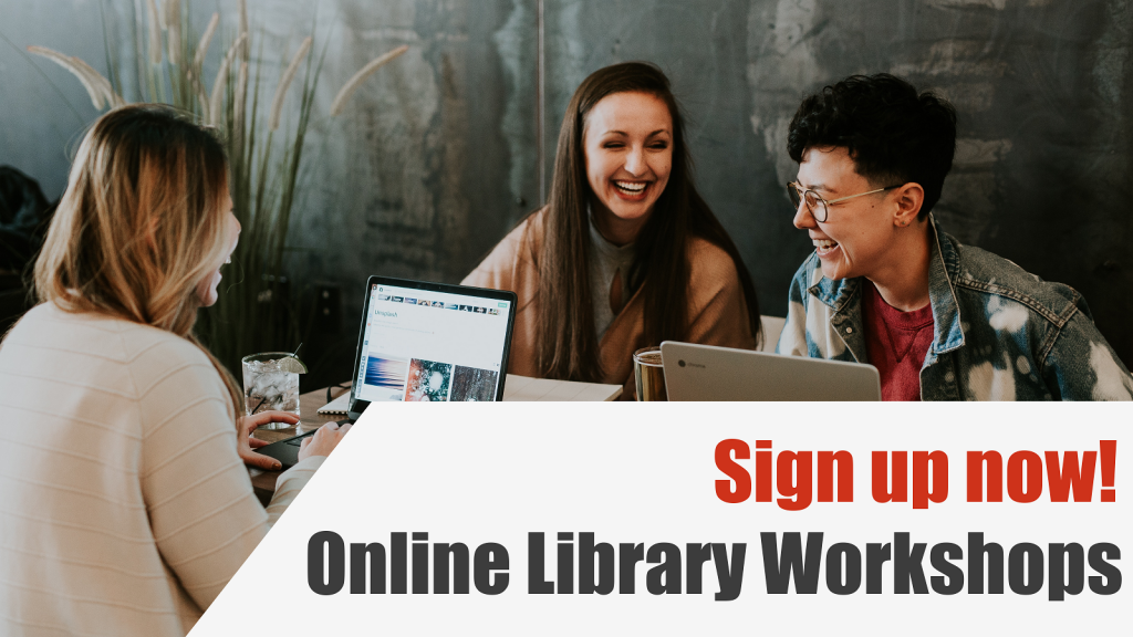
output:
<path id="1" fill-rule="evenodd" d="M 668 184 L 637 238 L 636 257 L 629 272 L 628 294 L 640 288 L 644 295 L 646 342 L 659 345 L 664 340 L 687 338 L 690 237 L 700 237 L 718 246 L 735 262 L 751 333 L 760 338 L 756 287 L 735 244 L 692 182 L 684 121 L 668 78 L 654 65 L 624 62 L 599 69 L 582 82 L 571 97 L 559 130 L 544 244 L 538 260 L 542 307 L 538 365 L 548 377 L 596 381 L 602 376 L 587 271 L 590 241 L 587 204 L 593 194 L 586 176 L 582 139 L 590 109 L 614 93 L 655 95 L 668 105 L 673 118 L 673 167 Z"/>

